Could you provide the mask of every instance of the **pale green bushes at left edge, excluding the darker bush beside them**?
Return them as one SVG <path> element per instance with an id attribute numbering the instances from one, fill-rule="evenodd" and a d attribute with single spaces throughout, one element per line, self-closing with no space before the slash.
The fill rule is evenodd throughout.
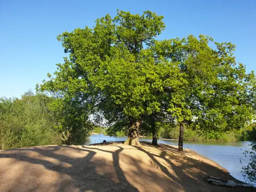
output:
<path id="1" fill-rule="evenodd" d="M 0 99 L 0 149 L 59 144 L 51 116 L 50 99 L 27 92 L 21 99 Z"/>

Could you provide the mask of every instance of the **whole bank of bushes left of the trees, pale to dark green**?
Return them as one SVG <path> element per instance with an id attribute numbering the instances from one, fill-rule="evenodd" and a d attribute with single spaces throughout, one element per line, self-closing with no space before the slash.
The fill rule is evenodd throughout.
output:
<path id="1" fill-rule="evenodd" d="M 0 149 L 82 145 L 92 127 L 83 111 L 72 105 L 58 105 L 53 110 L 53 101 L 57 100 L 33 92 L 21 99 L 0 98 Z"/>

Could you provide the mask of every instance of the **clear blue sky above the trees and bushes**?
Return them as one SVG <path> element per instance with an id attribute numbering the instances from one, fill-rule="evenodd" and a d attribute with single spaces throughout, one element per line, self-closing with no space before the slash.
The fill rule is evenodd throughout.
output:
<path id="1" fill-rule="evenodd" d="M 0 1 L 0 97 L 20 97 L 35 90 L 65 56 L 56 36 L 92 27 L 116 10 L 164 15 L 159 38 L 210 35 L 237 45 L 237 61 L 256 69 L 256 1 Z"/>

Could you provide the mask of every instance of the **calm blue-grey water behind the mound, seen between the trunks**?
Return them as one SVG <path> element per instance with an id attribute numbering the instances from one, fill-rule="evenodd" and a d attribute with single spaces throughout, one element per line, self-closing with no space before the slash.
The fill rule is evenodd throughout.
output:
<path id="1" fill-rule="evenodd" d="M 109 137 L 103 134 L 91 135 L 85 145 L 100 143 L 103 140 L 109 141 L 125 141 L 127 137 Z M 140 138 L 140 141 L 152 141 L 152 138 Z M 158 140 L 158 143 L 178 146 L 178 141 Z M 249 141 L 217 143 L 217 142 L 187 142 L 183 143 L 184 148 L 192 149 L 198 154 L 211 159 L 220 166 L 227 169 L 230 174 L 241 181 L 245 181 L 241 173 L 242 164 L 247 164 L 249 161 L 243 154 L 244 150 L 249 149 Z"/>

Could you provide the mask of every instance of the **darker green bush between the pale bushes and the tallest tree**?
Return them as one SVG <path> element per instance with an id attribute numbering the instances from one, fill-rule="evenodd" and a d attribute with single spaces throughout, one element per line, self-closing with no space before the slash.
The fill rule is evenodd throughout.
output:
<path id="1" fill-rule="evenodd" d="M 89 111 L 76 98 L 52 99 L 49 110 L 53 114 L 54 129 L 61 135 L 63 144 L 83 145 L 89 137 L 93 124 L 89 121 Z"/>

